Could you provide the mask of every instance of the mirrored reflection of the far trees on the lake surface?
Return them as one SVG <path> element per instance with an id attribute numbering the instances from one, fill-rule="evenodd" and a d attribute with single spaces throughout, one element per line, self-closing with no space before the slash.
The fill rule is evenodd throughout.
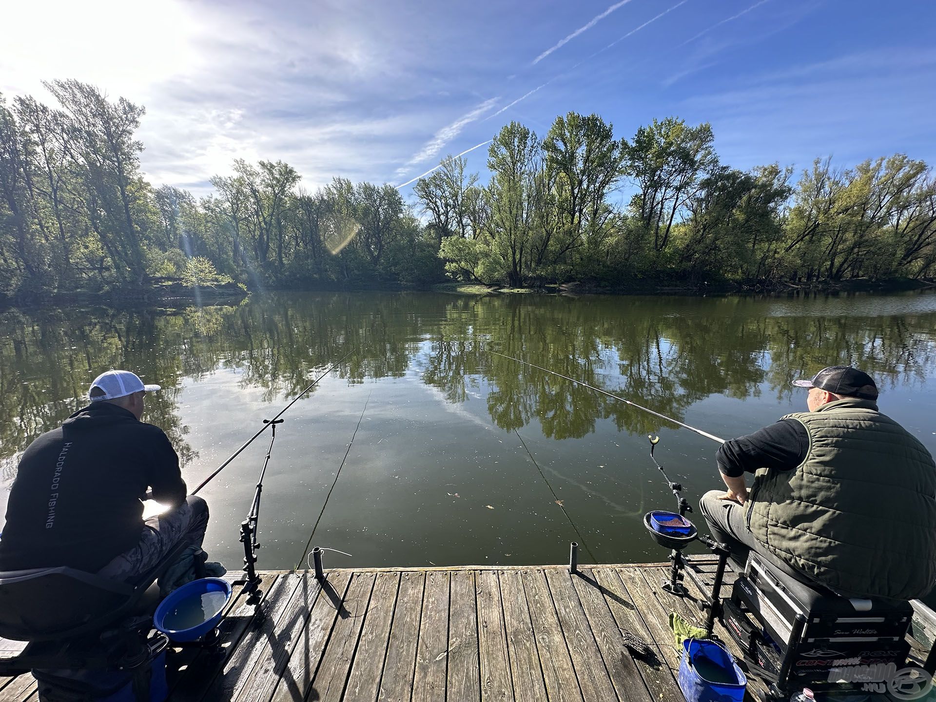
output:
<path id="1" fill-rule="evenodd" d="M 885 300 L 884 314 L 874 314 Z M 824 314 L 810 314 L 818 305 Z M 794 315 L 799 309 L 803 314 Z M 901 312 L 902 310 L 902 312 Z M 870 312 L 870 314 L 869 314 Z M 285 401 L 348 349 L 348 383 L 418 373 L 446 402 L 485 397 L 493 423 L 534 418 L 552 439 L 612 419 L 621 431 L 659 420 L 587 388 L 493 356 L 490 348 L 683 419 L 711 395 L 745 399 L 835 363 L 871 373 L 884 392 L 922 383 L 936 364 L 936 296 L 825 300 L 434 294 L 276 295 L 236 307 L 0 314 L 0 456 L 8 458 L 83 403 L 97 373 L 136 371 L 164 392 L 148 402 L 183 464 L 197 458 L 180 419 L 183 381 L 219 369 L 264 402 Z M 482 393 L 480 388 L 487 388 Z M 5 461 L 9 463 L 9 461 Z"/>

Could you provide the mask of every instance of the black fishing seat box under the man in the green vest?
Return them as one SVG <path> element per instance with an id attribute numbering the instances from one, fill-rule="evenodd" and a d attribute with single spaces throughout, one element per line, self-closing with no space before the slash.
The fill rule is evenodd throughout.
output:
<path id="1" fill-rule="evenodd" d="M 777 644 L 782 688 L 827 682 L 833 668 L 903 667 L 914 613 L 909 602 L 849 599 L 817 588 L 791 578 L 754 551 L 735 582 L 732 603 L 743 603 Z"/>

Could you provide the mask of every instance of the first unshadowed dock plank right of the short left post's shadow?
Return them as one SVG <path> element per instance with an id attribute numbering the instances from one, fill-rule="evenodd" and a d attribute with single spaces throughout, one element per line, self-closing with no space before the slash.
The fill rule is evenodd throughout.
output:
<path id="1" fill-rule="evenodd" d="M 348 702 L 373 702 L 377 698 L 399 586 L 399 573 L 377 574 L 358 640 L 358 652 L 344 689 L 344 699 Z"/>

